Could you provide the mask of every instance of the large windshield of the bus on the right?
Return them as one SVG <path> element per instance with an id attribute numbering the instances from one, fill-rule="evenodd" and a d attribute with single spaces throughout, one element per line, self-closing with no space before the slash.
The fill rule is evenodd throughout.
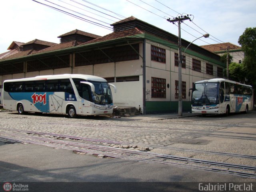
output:
<path id="1" fill-rule="evenodd" d="M 192 105 L 210 105 L 219 103 L 219 83 L 196 83 L 192 90 Z"/>

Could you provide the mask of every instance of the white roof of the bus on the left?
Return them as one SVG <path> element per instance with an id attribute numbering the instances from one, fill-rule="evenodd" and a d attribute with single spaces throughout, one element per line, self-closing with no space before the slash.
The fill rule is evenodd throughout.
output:
<path id="1" fill-rule="evenodd" d="M 81 78 L 81 79 L 90 80 L 90 81 L 107 82 L 107 80 L 104 79 L 104 78 L 101 78 L 101 77 L 98 77 L 98 76 L 93 76 L 93 75 L 84 75 L 84 74 L 42 75 L 42 76 L 29 77 L 29 78 L 5 80 L 4 82 L 33 81 L 33 80 L 53 80 L 53 79 L 61 79 L 61 78 Z"/>

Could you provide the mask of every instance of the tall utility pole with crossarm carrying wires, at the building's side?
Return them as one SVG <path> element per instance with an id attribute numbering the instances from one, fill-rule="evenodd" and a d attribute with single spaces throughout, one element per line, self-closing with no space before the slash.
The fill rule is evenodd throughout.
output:
<path id="1" fill-rule="evenodd" d="M 168 22 L 171 22 L 175 24 L 175 22 L 178 22 L 178 49 L 179 49 L 179 60 L 178 60 L 178 116 L 182 116 L 182 68 L 181 68 L 181 62 L 183 60 L 182 53 L 181 53 L 181 34 L 180 34 L 180 23 L 182 23 L 184 20 L 190 20 L 188 16 L 178 16 L 174 18 L 173 20 L 167 19 Z M 190 20 L 191 21 L 191 20 Z"/>

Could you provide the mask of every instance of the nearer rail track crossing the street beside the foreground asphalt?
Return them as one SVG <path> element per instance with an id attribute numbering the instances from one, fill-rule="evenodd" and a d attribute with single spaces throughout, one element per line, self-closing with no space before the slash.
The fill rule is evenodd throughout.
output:
<path id="1" fill-rule="evenodd" d="M 1 128 L 2 129 L 2 128 Z M 109 156 L 113 158 L 122 158 L 128 160 L 136 160 L 142 162 L 150 163 L 159 163 L 159 164 L 168 164 L 173 166 L 182 166 L 187 168 L 195 168 L 200 170 L 206 170 L 211 172 L 218 172 L 222 174 L 231 174 L 236 176 L 242 176 L 247 178 L 256 178 L 256 167 L 254 166 L 244 166 L 237 164 L 228 164 L 224 162 L 213 162 L 207 160 L 200 160 L 194 158 L 185 158 L 172 156 L 167 154 L 156 154 L 151 152 L 144 152 L 138 150 L 128 150 L 121 148 L 113 148 L 108 146 L 98 146 L 92 144 L 84 144 L 78 142 L 70 142 L 64 140 L 56 140 L 52 138 L 39 137 L 39 136 L 30 136 L 27 131 L 23 131 L 26 134 L 23 134 L 19 130 L 19 133 L 11 132 L 0 132 L 0 138 L 28 142 L 32 144 L 39 144 L 44 146 L 50 146 L 54 148 L 63 148 L 67 150 L 75 150 L 79 152 L 92 153 L 92 154 L 102 154 L 104 156 Z M 31 133 L 31 131 L 29 131 Z M 34 132 L 35 133 L 35 132 Z M 42 132 L 37 132 L 36 134 Z M 60 136 L 59 134 L 46 134 L 51 136 Z M 61 135 L 64 137 L 64 135 Z M 70 138 L 67 136 L 66 138 Z M 77 137 L 76 139 L 78 139 Z"/>

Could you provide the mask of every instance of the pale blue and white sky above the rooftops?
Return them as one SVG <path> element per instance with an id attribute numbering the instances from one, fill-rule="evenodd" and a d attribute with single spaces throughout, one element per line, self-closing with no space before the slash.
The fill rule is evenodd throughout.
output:
<path id="1" fill-rule="evenodd" d="M 194 44 L 197 45 L 223 42 L 239 45 L 238 39 L 244 30 L 256 27 L 256 0 L 35 1 L 1 2 L 0 53 L 7 52 L 13 41 L 26 43 L 39 39 L 59 43 L 58 36 L 75 29 L 104 36 L 112 32 L 110 24 L 130 16 L 178 36 L 177 24 L 172 24 L 166 19 L 181 14 L 191 15 L 192 21 L 186 20 L 181 24 L 181 37 L 192 42 L 203 34 L 210 34 L 209 38 L 196 40 Z M 59 11 L 49 6 L 58 8 Z M 78 18 L 74 18 L 74 15 Z"/>

